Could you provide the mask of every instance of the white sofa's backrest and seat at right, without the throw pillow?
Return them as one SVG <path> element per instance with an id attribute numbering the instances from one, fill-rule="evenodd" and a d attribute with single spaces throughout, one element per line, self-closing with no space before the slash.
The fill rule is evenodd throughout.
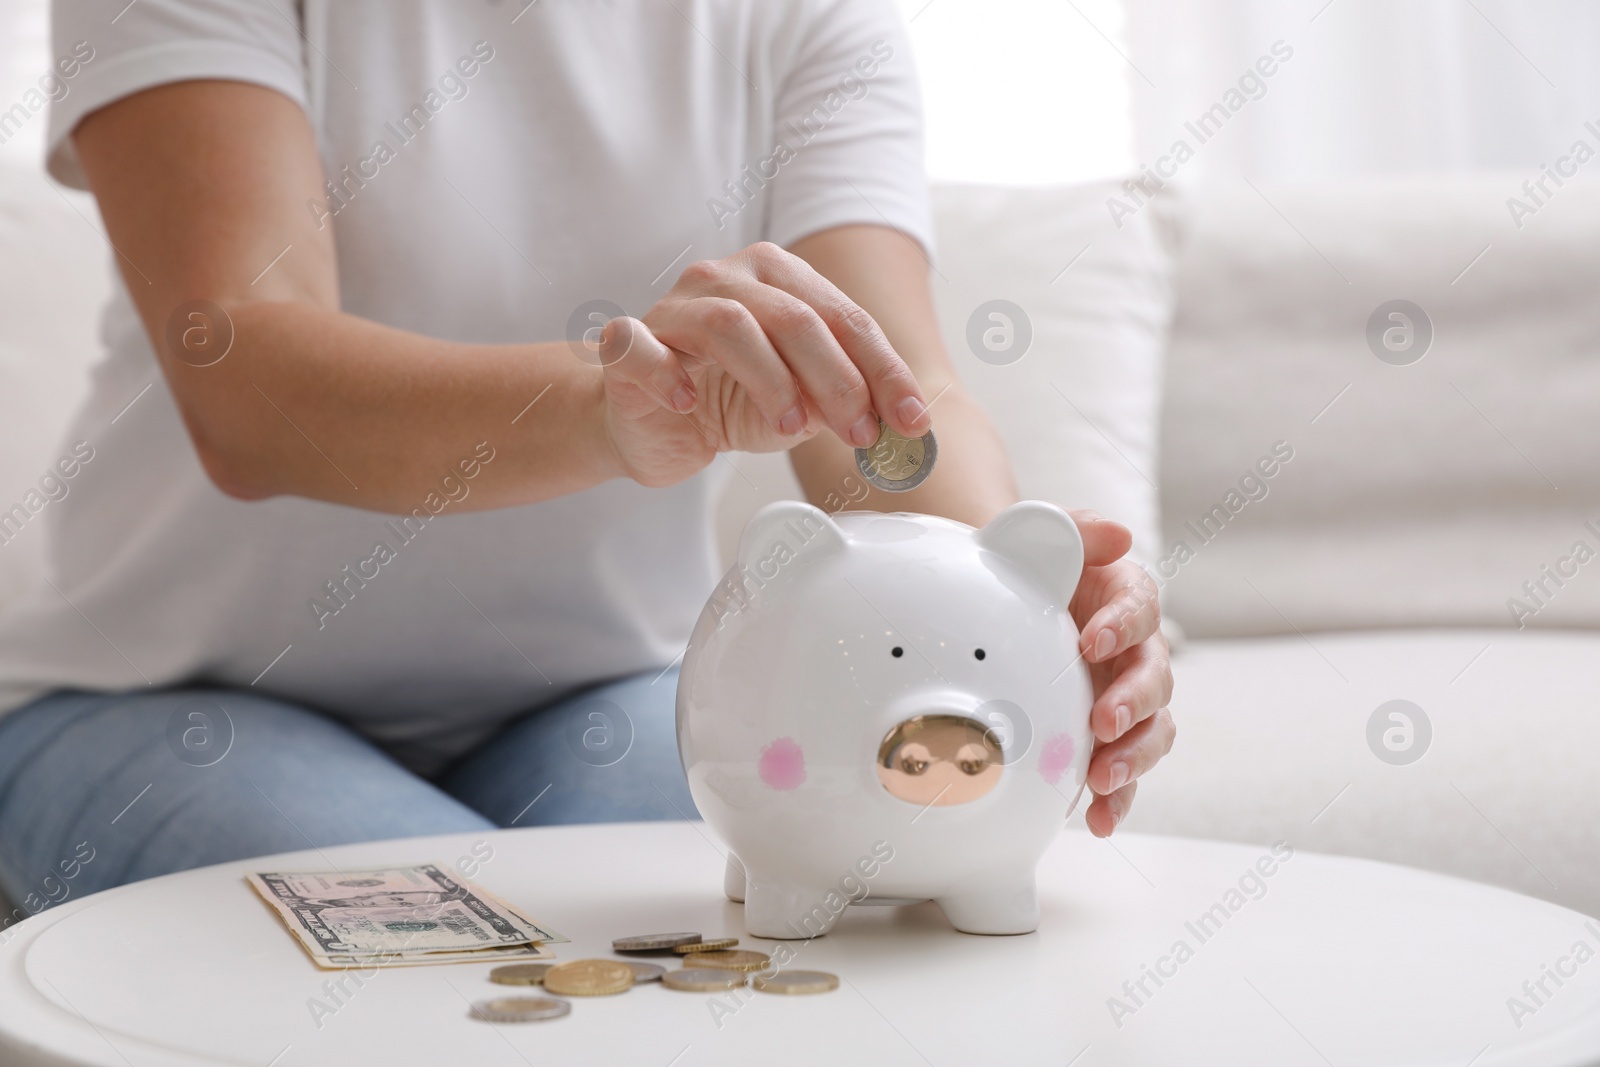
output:
<path id="1" fill-rule="evenodd" d="M 1600 560 L 1562 563 L 1600 550 L 1600 186 L 1517 229 L 1525 178 L 1240 182 L 1176 211 L 1163 544 L 1272 442 L 1294 459 L 1168 585 L 1179 737 L 1130 829 L 1600 915 Z M 1366 344 L 1392 299 L 1434 325 L 1410 366 Z M 1368 747 L 1390 699 L 1432 723 L 1411 765 Z"/>

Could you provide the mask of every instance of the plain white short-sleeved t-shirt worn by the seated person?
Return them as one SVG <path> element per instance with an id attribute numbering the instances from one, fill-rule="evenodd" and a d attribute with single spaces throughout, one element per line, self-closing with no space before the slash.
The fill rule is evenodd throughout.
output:
<path id="1" fill-rule="evenodd" d="M 56 51 L 94 59 L 51 107 L 50 170 L 85 184 L 69 133 L 120 96 L 274 88 L 317 133 L 330 186 L 307 211 L 334 227 L 344 310 L 469 342 L 566 338 L 597 299 L 640 315 L 688 262 L 763 238 L 880 222 L 930 245 L 893 0 L 523 2 L 141 0 L 110 19 L 56 0 Z M 242 502 L 198 466 L 120 283 L 102 336 L 67 438 L 93 459 L 46 515 L 53 585 L 0 619 L 0 710 L 62 686 L 254 686 L 429 771 L 522 709 L 670 664 L 718 577 L 725 462 L 488 512 L 461 512 L 472 482 L 440 470 L 410 523 Z M 486 411 L 464 470 L 512 434 Z"/>

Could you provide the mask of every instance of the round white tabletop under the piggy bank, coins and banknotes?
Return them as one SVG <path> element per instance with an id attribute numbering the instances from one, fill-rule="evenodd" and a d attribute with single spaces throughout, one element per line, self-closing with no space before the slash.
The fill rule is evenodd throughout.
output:
<path id="1" fill-rule="evenodd" d="M 570 1016 L 531 1024 L 469 1014 L 474 1000 L 517 993 L 491 984 L 483 963 L 387 969 L 330 998 L 338 973 L 317 969 L 242 878 L 454 865 L 485 840 L 493 859 L 477 880 L 571 937 L 555 945 L 563 960 L 669 929 L 774 944 L 744 937 L 702 824 L 250 859 L 69 901 L 13 928 L 0 947 L 0 1064 L 1600 1062 L 1600 958 L 1573 955 L 1578 942 L 1600 949 L 1600 921 L 1405 867 L 1299 851 L 1272 859 L 1266 846 L 1069 830 L 1040 865 L 1035 934 L 958 934 L 931 904 L 853 907 L 829 936 L 787 942 L 790 966 L 843 979 L 832 993 L 712 997 L 648 984 L 574 997 Z M 1514 1013 L 1510 998 L 1528 1011 Z"/>

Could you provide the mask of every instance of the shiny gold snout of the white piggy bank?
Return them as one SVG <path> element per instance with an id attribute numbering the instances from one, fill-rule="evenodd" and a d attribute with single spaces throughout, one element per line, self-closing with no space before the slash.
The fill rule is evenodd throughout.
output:
<path id="1" fill-rule="evenodd" d="M 917 715 L 883 737 L 878 781 L 918 806 L 965 805 L 1000 781 L 994 733 L 963 715 Z"/>

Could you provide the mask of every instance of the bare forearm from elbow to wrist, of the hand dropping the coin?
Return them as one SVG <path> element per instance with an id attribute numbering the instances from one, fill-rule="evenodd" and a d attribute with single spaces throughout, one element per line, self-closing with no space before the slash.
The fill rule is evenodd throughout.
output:
<path id="1" fill-rule="evenodd" d="M 472 510 L 622 474 L 600 418 L 602 371 L 565 342 L 456 344 L 294 302 L 226 312 L 227 355 L 168 358 L 166 373 L 202 462 L 234 496 L 410 512 L 470 470 L 456 507 Z"/>

